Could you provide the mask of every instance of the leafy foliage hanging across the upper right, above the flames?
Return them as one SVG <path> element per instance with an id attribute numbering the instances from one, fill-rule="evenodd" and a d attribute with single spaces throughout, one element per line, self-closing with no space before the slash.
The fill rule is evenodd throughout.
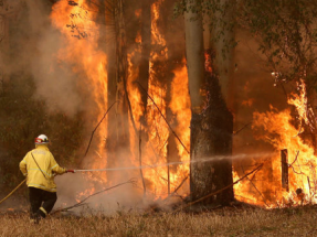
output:
<path id="1" fill-rule="evenodd" d="M 243 29 L 258 42 L 277 83 L 304 79 L 316 88 L 317 2 L 315 0 L 179 0 L 175 17 L 186 11 L 208 17 L 212 41 L 223 41 L 223 56 L 237 42 L 226 32 Z M 192 19 L 194 20 L 194 19 Z M 309 89 L 308 88 L 308 89 Z"/>

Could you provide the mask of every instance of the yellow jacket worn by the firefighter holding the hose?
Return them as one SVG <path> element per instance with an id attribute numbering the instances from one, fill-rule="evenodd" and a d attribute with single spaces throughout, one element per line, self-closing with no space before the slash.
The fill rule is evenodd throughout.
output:
<path id="1" fill-rule="evenodd" d="M 35 149 L 28 152 L 20 162 L 20 170 L 23 175 L 27 176 L 28 186 L 38 187 L 49 192 L 56 192 L 54 174 L 63 174 L 66 172 L 66 169 L 61 168 L 57 164 L 46 144 L 36 144 Z"/>

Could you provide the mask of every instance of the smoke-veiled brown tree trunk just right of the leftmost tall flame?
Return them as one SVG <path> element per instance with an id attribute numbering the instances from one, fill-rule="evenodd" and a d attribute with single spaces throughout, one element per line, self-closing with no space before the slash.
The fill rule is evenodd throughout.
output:
<path id="1" fill-rule="evenodd" d="M 113 0 L 109 4 L 112 14 L 106 18 L 107 25 L 113 30 L 107 31 L 107 63 L 108 69 L 108 105 L 116 103 L 116 110 L 107 116 L 107 166 L 121 166 L 127 164 L 126 155 L 129 152 L 129 118 L 126 94 L 127 82 L 127 52 L 124 18 L 124 1 Z M 110 35 L 112 34 L 112 35 Z M 118 173 L 109 173 L 108 179 L 121 179 Z"/>

